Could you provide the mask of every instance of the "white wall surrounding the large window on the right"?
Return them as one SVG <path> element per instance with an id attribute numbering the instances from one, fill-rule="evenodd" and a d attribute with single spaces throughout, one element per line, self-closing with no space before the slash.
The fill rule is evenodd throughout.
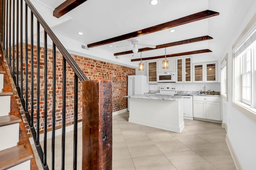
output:
<path id="1" fill-rule="evenodd" d="M 226 48 L 226 53 L 228 53 L 228 102 L 222 100 L 222 111 L 223 123 L 227 125 L 228 138 L 242 168 L 244 170 L 255 170 L 256 122 L 232 106 L 232 45 L 255 15 L 256 1 L 251 1 L 251 4 L 248 4 L 248 0 L 245 2 L 234 0 L 234 3 L 239 6 L 240 12 L 234 9 L 236 10 L 234 21 L 230 23 L 233 25 L 232 30 L 230 30 L 233 33 L 233 39 L 230 39 Z M 224 57 L 226 53 L 222 56 Z"/>

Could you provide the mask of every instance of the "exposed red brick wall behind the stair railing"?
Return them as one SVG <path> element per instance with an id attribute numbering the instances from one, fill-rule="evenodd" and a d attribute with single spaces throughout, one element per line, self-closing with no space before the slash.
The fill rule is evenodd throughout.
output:
<path id="1" fill-rule="evenodd" d="M 40 90 L 36 89 L 37 86 L 37 47 L 34 46 L 34 124 L 36 126 L 36 113 L 37 113 L 37 93 L 40 94 L 40 131 L 44 129 L 44 48 L 40 47 Z M 25 69 L 25 45 L 23 45 L 23 85 L 26 83 L 26 69 Z M 48 49 L 47 52 L 47 128 L 52 127 L 52 49 Z M 89 80 L 111 80 L 112 81 L 112 105 L 113 112 L 127 108 L 127 99 L 124 96 L 127 95 L 127 80 L 128 75 L 135 75 L 135 69 L 121 66 L 118 64 L 107 63 L 98 61 L 95 59 L 89 59 L 86 57 L 71 55 L 74 61 L 82 69 Z M 59 51 L 56 51 L 56 126 L 62 125 L 62 55 Z M 31 47 L 28 45 L 28 111 L 31 113 Z M 71 124 L 74 117 L 74 72 L 72 68 L 67 64 L 66 68 L 66 124 Z M 20 77 L 19 77 L 20 79 Z M 78 119 L 82 119 L 82 83 L 78 81 Z M 25 86 L 23 93 L 25 94 Z M 24 95 L 25 97 L 25 95 Z M 25 123 L 26 129 L 28 124 Z M 29 133 L 29 131 L 28 131 Z"/>

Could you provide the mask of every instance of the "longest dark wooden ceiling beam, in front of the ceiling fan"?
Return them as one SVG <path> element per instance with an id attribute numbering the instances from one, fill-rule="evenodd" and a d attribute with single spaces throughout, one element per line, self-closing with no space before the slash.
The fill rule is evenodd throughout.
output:
<path id="1" fill-rule="evenodd" d="M 145 29 L 141 29 L 141 30 L 132 32 L 132 33 L 127 33 L 127 34 L 120 35 L 120 36 L 117 36 L 117 37 L 114 37 L 114 38 L 105 39 L 103 41 L 99 41 L 99 42 L 96 42 L 96 43 L 91 43 L 91 44 L 88 44 L 87 47 L 91 48 L 91 47 L 97 47 L 97 46 L 105 45 L 105 44 L 109 44 L 109 43 L 114 43 L 116 41 L 121 41 L 121 40 L 124 40 L 124 39 L 138 37 L 138 36 L 145 35 L 145 34 L 148 34 L 148 33 L 154 33 L 156 31 L 161 31 L 161 30 L 164 30 L 164 29 L 169 29 L 171 27 L 176 27 L 178 25 L 183 25 L 183 24 L 186 24 L 186 23 L 190 23 L 190 22 L 194 22 L 194 21 L 198 21 L 198 20 L 203 20 L 205 18 L 218 16 L 219 14 L 220 13 L 218 13 L 218 12 L 214 12 L 214 11 L 211 11 L 211 10 L 205 10 L 205 11 L 202 11 L 202 12 L 198 12 L 196 14 L 192 14 L 192 15 L 189 15 L 189 16 L 179 18 L 177 20 L 169 21 L 169 22 L 166 22 L 166 23 L 161 23 L 161 24 L 155 25 L 153 27 L 148 27 L 148 28 L 145 28 Z"/>

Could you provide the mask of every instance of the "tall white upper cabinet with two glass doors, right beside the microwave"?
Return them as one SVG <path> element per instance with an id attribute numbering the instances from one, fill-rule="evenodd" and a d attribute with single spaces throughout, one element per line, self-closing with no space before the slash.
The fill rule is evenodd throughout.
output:
<path id="1" fill-rule="evenodd" d="M 176 58 L 176 83 L 192 83 L 192 57 Z"/>

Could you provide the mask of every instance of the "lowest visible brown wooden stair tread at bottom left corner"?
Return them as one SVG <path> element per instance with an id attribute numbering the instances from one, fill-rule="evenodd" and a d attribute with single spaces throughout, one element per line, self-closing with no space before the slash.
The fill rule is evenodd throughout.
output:
<path id="1" fill-rule="evenodd" d="M 0 151 L 0 170 L 6 170 L 33 158 L 22 145 Z"/>

